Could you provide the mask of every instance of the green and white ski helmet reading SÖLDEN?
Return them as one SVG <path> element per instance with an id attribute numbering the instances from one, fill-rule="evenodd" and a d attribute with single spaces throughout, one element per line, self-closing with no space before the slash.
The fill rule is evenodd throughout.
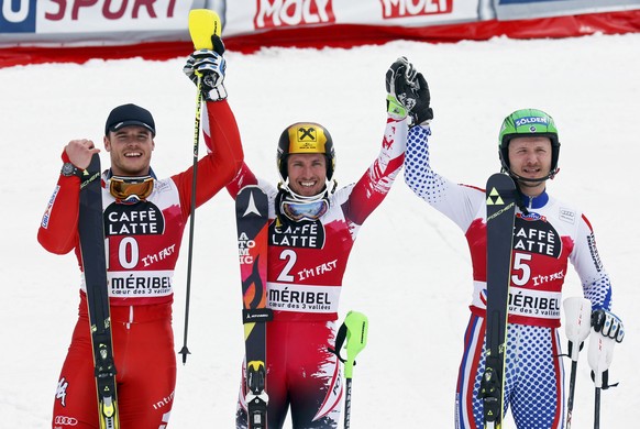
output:
<path id="1" fill-rule="evenodd" d="M 525 136 L 543 136 L 551 140 L 551 170 L 544 179 L 555 176 L 560 157 L 558 129 L 553 118 L 538 109 L 516 110 L 503 121 L 498 136 L 498 154 L 503 170 L 512 175 L 509 165 L 509 142 L 511 139 Z"/>

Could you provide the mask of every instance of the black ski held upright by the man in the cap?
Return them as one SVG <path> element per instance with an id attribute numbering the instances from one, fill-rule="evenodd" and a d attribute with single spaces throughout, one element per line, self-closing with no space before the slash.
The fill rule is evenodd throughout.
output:
<path id="1" fill-rule="evenodd" d="M 93 346 L 100 429 L 120 428 L 115 394 L 115 365 L 104 254 L 104 221 L 100 186 L 100 157 L 95 154 L 80 185 L 78 232 Z"/>

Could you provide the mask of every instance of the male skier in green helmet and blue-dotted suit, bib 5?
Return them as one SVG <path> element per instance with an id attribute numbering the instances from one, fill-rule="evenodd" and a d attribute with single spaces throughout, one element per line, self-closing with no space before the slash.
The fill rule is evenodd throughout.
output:
<path id="1" fill-rule="evenodd" d="M 482 428 L 478 389 L 485 366 L 485 191 L 433 172 L 428 145 L 433 118 L 429 87 L 420 74 L 410 87 L 418 120 L 410 124 L 408 134 L 405 182 L 464 231 L 473 264 L 474 290 L 456 385 L 455 427 Z M 611 285 L 588 220 L 547 193 L 547 180 L 559 170 L 560 142 L 553 119 L 537 109 L 517 110 L 505 118 L 498 145 L 503 172 L 516 182 L 520 199 L 514 229 L 504 407 L 511 406 L 518 428 L 562 428 L 564 371 L 558 328 L 567 262 L 577 272 L 594 312 L 599 312 L 596 331 L 619 342 L 622 323 L 610 312 Z"/>

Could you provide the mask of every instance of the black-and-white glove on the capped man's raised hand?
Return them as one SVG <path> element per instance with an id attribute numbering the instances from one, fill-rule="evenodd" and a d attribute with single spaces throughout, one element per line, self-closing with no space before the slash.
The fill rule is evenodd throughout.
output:
<path id="1" fill-rule="evenodd" d="M 227 98 L 227 89 L 223 85 L 227 70 L 227 62 L 222 56 L 224 43 L 217 35 L 211 36 L 211 42 L 213 50 L 198 50 L 189 55 L 187 64 L 183 67 L 183 73 L 196 85 L 198 85 L 198 77 L 200 77 L 205 99 L 219 101 Z"/>

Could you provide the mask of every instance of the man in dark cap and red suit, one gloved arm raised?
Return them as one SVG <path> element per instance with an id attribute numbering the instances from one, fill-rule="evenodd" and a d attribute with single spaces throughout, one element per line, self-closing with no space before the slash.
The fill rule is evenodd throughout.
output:
<path id="1" fill-rule="evenodd" d="M 221 43 L 218 44 L 221 46 Z M 202 131 L 208 154 L 198 162 L 196 206 L 213 197 L 238 173 L 243 151 L 225 100 L 223 48 L 190 57 L 202 75 Z M 122 428 L 157 429 L 168 424 L 176 384 L 172 329 L 173 275 L 191 210 L 194 168 L 158 179 L 151 168 L 155 121 L 135 105 L 114 108 L 103 144 L 111 166 L 102 173 L 106 250 L 113 355 Z M 99 150 L 73 140 L 38 231 L 44 249 L 71 250 L 81 267 L 78 240 L 80 176 Z M 84 277 L 82 277 L 84 278 Z M 96 381 L 85 285 L 79 318 L 63 365 L 52 427 L 98 428 Z"/>

